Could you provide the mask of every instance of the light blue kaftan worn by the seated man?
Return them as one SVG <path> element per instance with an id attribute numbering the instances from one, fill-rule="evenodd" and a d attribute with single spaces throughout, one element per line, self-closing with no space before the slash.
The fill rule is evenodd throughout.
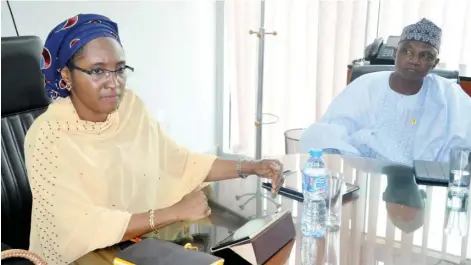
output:
<path id="1" fill-rule="evenodd" d="M 338 149 L 342 154 L 412 164 L 448 161 L 453 146 L 471 145 L 471 97 L 435 74 L 415 95 L 389 87 L 391 72 L 355 79 L 302 135 L 301 151 Z"/>

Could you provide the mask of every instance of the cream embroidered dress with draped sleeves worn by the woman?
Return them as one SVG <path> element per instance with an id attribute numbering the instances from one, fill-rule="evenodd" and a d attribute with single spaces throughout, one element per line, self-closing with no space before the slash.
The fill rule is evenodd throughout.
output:
<path id="1" fill-rule="evenodd" d="M 178 146 L 126 90 L 104 122 L 80 120 L 69 98 L 51 104 L 27 133 L 25 159 L 30 250 L 62 265 L 110 264 L 95 250 L 118 243 L 133 213 L 171 206 L 198 187 L 215 157 Z"/>

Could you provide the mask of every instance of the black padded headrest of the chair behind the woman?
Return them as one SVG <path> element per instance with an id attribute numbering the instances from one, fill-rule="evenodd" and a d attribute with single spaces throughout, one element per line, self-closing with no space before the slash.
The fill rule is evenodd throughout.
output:
<path id="1" fill-rule="evenodd" d="M 2 37 L 2 117 L 47 107 L 39 37 Z"/>

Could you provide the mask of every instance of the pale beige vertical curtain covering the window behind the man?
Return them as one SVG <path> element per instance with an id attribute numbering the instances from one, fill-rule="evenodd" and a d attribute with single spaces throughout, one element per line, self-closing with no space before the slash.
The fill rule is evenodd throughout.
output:
<path id="1" fill-rule="evenodd" d="M 422 17 L 443 29 L 442 66 L 471 72 L 469 0 L 266 0 L 263 155 L 284 153 L 285 130 L 319 119 L 346 85 L 347 65 L 377 36 L 399 35 Z M 260 1 L 225 0 L 226 106 L 230 152 L 252 156 Z M 467 47 L 468 49 L 465 49 Z M 354 103 L 352 104 L 359 104 Z M 226 118 L 229 113 L 226 113 Z M 273 120 L 270 116 L 266 121 Z M 226 119 L 227 120 L 227 119 Z M 229 139 L 229 137 L 226 137 Z"/>

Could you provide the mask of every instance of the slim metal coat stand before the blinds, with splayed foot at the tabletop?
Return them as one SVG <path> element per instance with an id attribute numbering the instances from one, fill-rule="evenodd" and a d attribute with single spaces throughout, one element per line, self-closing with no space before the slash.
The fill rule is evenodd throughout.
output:
<path id="1" fill-rule="evenodd" d="M 255 159 L 262 159 L 262 125 L 273 124 L 278 121 L 278 117 L 271 113 L 263 113 L 263 73 L 264 73 L 264 53 L 265 53 L 265 35 L 276 36 L 276 31 L 266 32 L 265 30 L 265 0 L 260 1 L 260 28 L 258 31 L 250 30 L 250 35 L 256 34 L 259 39 L 258 42 L 258 83 L 257 83 L 257 100 L 256 100 L 256 115 L 255 115 Z M 271 122 L 263 122 L 263 116 L 271 116 L 274 118 Z M 243 197 L 250 196 L 243 204 L 239 207 L 241 210 L 244 209 L 245 205 L 252 199 L 256 199 L 256 215 L 259 216 L 262 213 L 261 209 L 261 191 L 262 182 L 260 178 L 257 179 L 257 189 L 255 192 L 246 193 L 242 195 L 236 195 L 236 200 L 240 200 Z M 266 197 L 266 196 L 264 196 Z M 272 198 L 266 197 L 275 206 L 280 207 L 281 205 L 275 202 Z"/>

